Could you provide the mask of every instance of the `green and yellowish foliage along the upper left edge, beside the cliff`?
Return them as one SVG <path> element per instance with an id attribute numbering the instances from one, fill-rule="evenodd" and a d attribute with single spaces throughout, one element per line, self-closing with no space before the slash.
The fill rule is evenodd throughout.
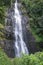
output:
<path id="1" fill-rule="evenodd" d="M 5 26 L 5 11 L 11 6 L 11 0 L 0 0 L 0 40 L 5 39 L 4 31 Z"/>

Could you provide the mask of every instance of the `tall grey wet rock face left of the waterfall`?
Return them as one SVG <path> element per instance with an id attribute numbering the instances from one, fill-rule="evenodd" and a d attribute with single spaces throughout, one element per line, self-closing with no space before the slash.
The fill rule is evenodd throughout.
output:
<path id="1" fill-rule="evenodd" d="M 7 16 L 5 20 L 5 38 L 6 40 L 3 40 L 0 42 L 1 47 L 4 49 L 5 53 L 13 58 L 15 56 L 14 52 L 14 43 L 13 40 L 15 40 L 15 37 L 13 35 L 13 25 L 15 24 L 15 20 L 12 20 L 13 8 L 9 8 L 7 11 Z"/>

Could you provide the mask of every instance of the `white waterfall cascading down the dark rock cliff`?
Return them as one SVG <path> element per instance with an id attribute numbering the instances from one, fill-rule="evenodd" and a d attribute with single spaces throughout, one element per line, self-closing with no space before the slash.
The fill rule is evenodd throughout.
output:
<path id="1" fill-rule="evenodd" d="M 22 24 L 21 24 L 21 15 L 18 10 L 18 3 L 17 0 L 15 2 L 14 8 L 14 18 L 15 18 L 15 56 L 20 57 L 22 54 L 28 54 L 28 49 L 26 47 L 25 42 L 23 41 L 23 34 L 22 34 Z"/>

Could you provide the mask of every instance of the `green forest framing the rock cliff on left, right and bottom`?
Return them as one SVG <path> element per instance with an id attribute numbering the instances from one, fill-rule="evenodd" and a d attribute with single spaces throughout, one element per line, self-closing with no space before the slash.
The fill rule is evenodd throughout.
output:
<path id="1" fill-rule="evenodd" d="M 6 40 L 5 13 L 14 1 L 0 0 L 0 41 Z M 30 31 L 38 42 L 37 46 L 41 43 L 41 52 L 23 55 L 21 58 L 9 58 L 2 49 L 3 43 L 1 45 L 0 42 L 0 65 L 43 65 L 43 0 L 20 0 L 20 3 L 29 17 Z"/>

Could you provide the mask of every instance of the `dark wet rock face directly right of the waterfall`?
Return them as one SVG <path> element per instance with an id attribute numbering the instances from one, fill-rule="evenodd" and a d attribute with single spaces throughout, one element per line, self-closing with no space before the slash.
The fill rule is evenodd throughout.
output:
<path id="1" fill-rule="evenodd" d="M 23 38 L 28 47 L 29 53 L 32 53 L 32 52 L 35 52 L 34 49 L 36 50 L 35 44 L 34 44 L 35 38 L 30 32 L 30 25 L 28 26 L 27 23 L 29 25 L 28 16 L 23 15 L 23 18 L 22 18 Z"/>

